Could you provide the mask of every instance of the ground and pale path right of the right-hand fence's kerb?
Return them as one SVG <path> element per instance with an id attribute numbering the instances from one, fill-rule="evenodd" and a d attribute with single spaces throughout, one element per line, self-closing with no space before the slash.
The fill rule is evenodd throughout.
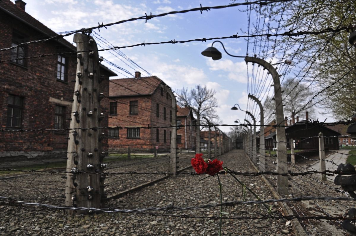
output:
<path id="1" fill-rule="evenodd" d="M 330 151 L 331 154 L 325 157 L 326 160 L 332 160 L 337 165 L 340 163 L 345 163 L 347 158 L 347 153 L 349 150 L 335 150 Z M 337 153 L 339 152 L 339 153 Z M 318 159 L 316 156 L 314 159 Z M 267 163 L 269 170 L 275 170 L 276 166 L 273 166 L 271 162 L 275 158 L 267 157 Z M 337 165 L 331 162 L 326 163 L 326 170 L 328 168 L 333 171 L 337 169 Z M 319 161 L 307 160 L 307 163 L 296 163 L 295 165 L 288 165 L 288 170 L 292 172 L 304 172 L 312 170 L 320 170 Z M 285 197 L 299 197 L 299 196 L 324 196 L 324 197 L 350 197 L 341 190 L 340 186 L 334 184 L 335 176 L 328 176 L 327 181 L 321 181 L 321 175 L 308 175 L 304 177 L 290 177 L 289 184 L 289 196 Z M 269 177 L 269 181 L 275 183 L 272 178 Z M 303 215 L 314 215 L 314 216 L 343 216 L 350 208 L 355 207 L 353 202 L 346 201 L 323 201 L 323 200 L 312 200 L 312 201 L 302 201 L 288 203 L 290 208 L 293 210 L 294 214 Z M 300 224 L 305 228 L 307 235 L 333 235 L 341 236 L 347 235 L 346 231 L 342 228 L 343 220 L 299 220 Z"/>

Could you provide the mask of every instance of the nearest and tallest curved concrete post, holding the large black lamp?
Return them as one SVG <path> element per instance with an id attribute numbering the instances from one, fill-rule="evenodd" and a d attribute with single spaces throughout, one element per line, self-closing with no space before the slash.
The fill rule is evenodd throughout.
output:
<path id="1" fill-rule="evenodd" d="M 274 99 L 276 100 L 276 124 L 284 124 L 281 82 L 277 70 L 267 61 L 256 57 L 245 57 L 246 63 L 252 62 L 263 66 L 272 75 L 274 85 Z M 277 136 L 277 172 L 287 173 L 287 144 L 286 130 L 284 127 L 276 127 Z M 277 176 L 277 191 L 281 194 L 288 194 L 288 177 Z"/>

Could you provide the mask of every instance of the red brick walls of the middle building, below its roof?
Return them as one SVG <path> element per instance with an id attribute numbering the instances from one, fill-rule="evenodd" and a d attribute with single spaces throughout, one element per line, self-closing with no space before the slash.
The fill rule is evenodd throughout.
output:
<path id="1" fill-rule="evenodd" d="M 160 85 L 163 95 L 158 88 L 153 95 L 112 97 L 109 102 L 117 101 L 117 115 L 109 116 L 109 126 L 121 127 L 147 127 L 148 125 L 169 126 L 172 99 L 166 97 L 167 87 Z M 130 114 L 130 101 L 137 101 L 138 114 Z M 156 116 L 156 106 L 159 104 L 159 117 Z M 166 108 L 166 119 L 164 119 L 164 108 Z M 168 151 L 170 148 L 171 128 L 159 128 L 159 142 L 156 141 L 157 129 L 140 129 L 140 138 L 127 138 L 127 129 L 119 130 L 119 138 L 109 138 L 110 152 L 150 151 L 158 146 L 158 151 Z M 166 142 L 164 142 L 164 130 L 166 130 Z"/>

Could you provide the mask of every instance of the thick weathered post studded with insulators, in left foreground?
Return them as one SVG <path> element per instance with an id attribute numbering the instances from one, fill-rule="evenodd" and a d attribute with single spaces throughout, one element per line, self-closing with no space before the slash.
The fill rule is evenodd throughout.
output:
<path id="1" fill-rule="evenodd" d="M 105 133 L 100 121 L 105 119 L 100 113 L 100 100 L 104 94 L 99 91 L 99 55 L 93 37 L 85 33 L 74 34 L 73 42 L 77 50 L 77 74 L 74 86 L 72 116 L 67 149 L 66 206 L 101 208 L 104 205 L 105 175 L 77 173 L 102 173 L 105 152 L 101 149 L 101 140 Z M 84 129 L 85 128 L 85 129 Z M 90 128 L 90 129 L 88 129 Z M 85 214 L 88 211 L 69 211 Z"/>

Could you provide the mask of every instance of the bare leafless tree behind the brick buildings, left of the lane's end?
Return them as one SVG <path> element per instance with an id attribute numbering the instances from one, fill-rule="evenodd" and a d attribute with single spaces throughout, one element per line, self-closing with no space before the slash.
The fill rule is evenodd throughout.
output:
<path id="1" fill-rule="evenodd" d="M 214 97 L 215 90 L 208 89 L 206 86 L 197 85 L 188 91 L 188 88 L 177 90 L 177 103 L 179 106 L 187 106 L 193 110 L 197 116 L 197 125 L 200 125 L 200 117 L 210 118 L 216 116 L 215 108 L 218 107 L 218 101 Z M 197 128 L 197 146 L 196 152 L 200 152 L 200 128 Z"/>

